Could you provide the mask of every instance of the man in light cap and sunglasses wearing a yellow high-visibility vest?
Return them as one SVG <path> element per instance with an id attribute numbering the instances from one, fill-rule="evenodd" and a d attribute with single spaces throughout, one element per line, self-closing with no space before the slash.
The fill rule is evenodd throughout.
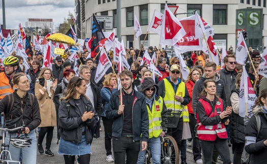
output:
<path id="1" fill-rule="evenodd" d="M 172 113 L 181 113 L 180 119 L 176 127 L 168 127 L 168 135 L 172 136 L 179 150 L 181 150 L 181 142 L 183 135 L 183 119 L 189 120 L 187 104 L 190 102 L 190 96 L 186 88 L 185 83 L 180 79 L 181 69 L 177 64 L 173 64 L 170 67 L 170 77 L 164 78 L 159 82 L 159 95 L 163 98 L 167 110 L 171 110 Z M 187 114 L 186 114 L 187 111 Z M 184 116 L 184 118 L 183 118 Z M 169 122 L 168 122 L 169 124 Z M 185 157 L 186 158 L 186 157 Z M 186 161 L 184 158 L 183 161 Z M 184 162 L 186 163 L 186 162 Z"/>

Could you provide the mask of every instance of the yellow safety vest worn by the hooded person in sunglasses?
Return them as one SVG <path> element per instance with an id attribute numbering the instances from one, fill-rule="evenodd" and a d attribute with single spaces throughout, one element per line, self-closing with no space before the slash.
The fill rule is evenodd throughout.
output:
<path id="1" fill-rule="evenodd" d="M 149 105 L 146 105 L 147 112 L 149 114 L 149 138 L 159 137 L 162 132 L 161 126 L 161 112 L 163 109 L 163 99 L 160 97 L 158 101 L 154 101 L 152 109 Z"/>

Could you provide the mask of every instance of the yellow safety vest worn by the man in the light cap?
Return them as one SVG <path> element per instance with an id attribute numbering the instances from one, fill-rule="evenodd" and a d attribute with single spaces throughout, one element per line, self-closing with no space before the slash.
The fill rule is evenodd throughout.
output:
<path id="1" fill-rule="evenodd" d="M 189 112 L 188 112 L 187 106 L 183 106 L 181 102 L 177 102 L 174 99 L 174 95 L 185 97 L 185 93 L 186 93 L 185 83 L 181 81 L 181 83 L 178 85 L 176 93 L 174 93 L 174 89 L 171 83 L 166 78 L 163 80 L 164 80 L 164 85 L 165 85 L 164 103 L 167 109 L 172 109 L 173 112 L 182 111 L 181 117 L 184 116 L 183 117 L 184 122 L 189 122 Z"/>

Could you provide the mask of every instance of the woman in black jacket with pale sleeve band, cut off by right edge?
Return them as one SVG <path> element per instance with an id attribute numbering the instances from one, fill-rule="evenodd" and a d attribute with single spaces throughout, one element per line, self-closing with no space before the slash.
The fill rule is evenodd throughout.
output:
<path id="1" fill-rule="evenodd" d="M 257 97 L 245 128 L 245 150 L 250 154 L 249 163 L 266 163 L 267 156 L 267 89 Z"/>

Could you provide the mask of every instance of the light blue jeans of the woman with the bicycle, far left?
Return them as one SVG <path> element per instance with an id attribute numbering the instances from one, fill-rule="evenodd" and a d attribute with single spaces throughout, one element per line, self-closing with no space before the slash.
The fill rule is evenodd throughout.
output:
<path id="1" fill-rule="evenodd" d="M 17 134 L 11 134 L 11 137 L 16 137 Z M 35 129 L 33 129 L 28 136 L 29 138 L 32 139 L 32 145 L 31 147 L 25 147 L 22 149 L 16 148 L 13 145 L 9 145 L 9 151 L 11 153 L 11 158 L 12 160 L 19 161 L 20 154 L 22 153 L 24 163 L 29 163 L 29 164 L 36 164 L 37 160 L 37 139 L 36 139 L 36 133 Z M 7 137 L 5 140 L 5 143 L 9 143 L 9 134 L 7 133 Z"/>

